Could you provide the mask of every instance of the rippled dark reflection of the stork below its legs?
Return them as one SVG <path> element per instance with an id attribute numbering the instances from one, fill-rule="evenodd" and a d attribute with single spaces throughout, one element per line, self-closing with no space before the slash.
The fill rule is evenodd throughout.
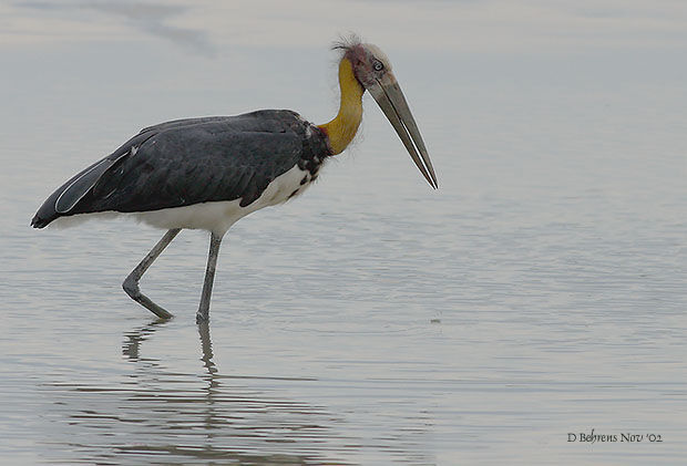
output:
<path id="1" fill-rule="evenodd" d="M 336 416 L 307 403 L 270 397 L 264 379 L 219 374 L 207 324 L 198 325 L 204 366 L 198 364 L 198 373 L 174 372 L 161 360 L 143 358 L 142 346 L 164 325 L 154 321 L 125 333 L 122 352 L 135 369 L 124 382 L 50 386 L 54 412 L 49 416 L 60 424 L 51 443 L 69 447 L 54 459 L 342 463 L 331 457 L 328 445 L 332 433 L 327 425 Z M 250 387 L 252 380 L 263 389 Z"/>

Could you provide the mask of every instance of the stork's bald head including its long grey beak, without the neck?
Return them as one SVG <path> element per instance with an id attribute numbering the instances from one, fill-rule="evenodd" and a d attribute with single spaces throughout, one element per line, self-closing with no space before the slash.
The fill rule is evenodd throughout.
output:
<path id="1" fill-rule="evenodd" d="M 360 85 L 380 106 L 408 149 L 427 182 L 437 188 L 437 175 L 432 167 L 424 141 L 416 123 L 403 92 L 391 71 L 391 62 L 377 45 L 362 43 L 357 38 L 335 44 L 341 50 L 341 60 L 348 60 Z"/>

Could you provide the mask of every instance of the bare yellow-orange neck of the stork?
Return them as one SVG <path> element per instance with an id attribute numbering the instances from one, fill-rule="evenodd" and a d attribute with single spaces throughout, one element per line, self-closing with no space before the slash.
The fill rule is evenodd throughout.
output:
<path id="1" fill-rule="evenodd" d="M 353 66 L 348 59 L 339 63 L 339 86 L 341 87 L 341 105 L 339 113 L 329 123 L 319 125 L 329 137 L 329 146 L 334 154 L 340 154 L 352 141 L 362 120 L 362 93 L 365 89 L 353 75 Z"/>

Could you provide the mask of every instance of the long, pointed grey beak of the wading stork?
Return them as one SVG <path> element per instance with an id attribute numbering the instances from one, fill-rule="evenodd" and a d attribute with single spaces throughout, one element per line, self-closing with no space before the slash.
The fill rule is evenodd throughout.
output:
<path id="1" fill-rule="evenodd" d="M 416 163 L 427 183 L 437 189 L 439 185 L 434 167 L 432 167 L 416 118 L 413 118 L 401 86 L 399 86 L 393 74 L 387 73 L 381 80 L 376 80 L 372 85 L 367 86 L 367 90 L 370 91 L 377 104 L 389 118 L 391 126 L 398 133 L 412 162 Z"/>

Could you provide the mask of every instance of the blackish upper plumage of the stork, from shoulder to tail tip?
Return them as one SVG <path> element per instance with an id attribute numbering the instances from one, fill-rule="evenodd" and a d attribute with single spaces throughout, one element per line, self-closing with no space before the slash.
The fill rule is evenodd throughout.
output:
<path id="1" fill-rule="evenodd" d="M 316 175 L 330 155 L 321 131 L 290 111 L 177 120 L 141 131 L 57 189 L 32 226 L 102 211 L 142 213 L 260 197 L 298 166 Z"/>

